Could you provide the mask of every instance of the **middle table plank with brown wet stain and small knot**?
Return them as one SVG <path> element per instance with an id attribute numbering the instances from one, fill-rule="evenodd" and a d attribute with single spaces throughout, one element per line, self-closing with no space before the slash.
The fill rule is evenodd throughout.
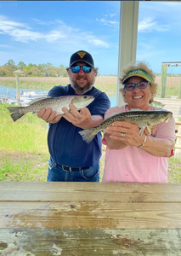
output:
<path id="1" fill-rule="evenodd" d="M 181 229 L 181 203 L 1 202 L 0 228 Z"/>

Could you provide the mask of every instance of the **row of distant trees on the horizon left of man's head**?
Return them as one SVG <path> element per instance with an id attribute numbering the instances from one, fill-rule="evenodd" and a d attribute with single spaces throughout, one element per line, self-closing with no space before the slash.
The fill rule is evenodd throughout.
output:
<path id="1" fill-rule="evenodd" d="M 13 60 L 9 60 L 6 64 L 0 66 L 0 77 L 13 77 L 14 71 L 17 70 L 23 72 L 21 75 L 28 77 L 67 77 L 64 65 L 54 67 L 51 63 L 39 65 L 30 63 L 26 66 L 23 61 L 15 65 Z"/>

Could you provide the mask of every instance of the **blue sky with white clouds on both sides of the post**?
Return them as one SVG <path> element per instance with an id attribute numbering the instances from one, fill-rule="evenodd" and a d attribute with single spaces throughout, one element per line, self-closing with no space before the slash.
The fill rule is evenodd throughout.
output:
<path id="1" fill-rule="evenodd" d="M 139 2 L 137 60 L 156 73 L 161 62 L 181 61 L 181 3 Z M 99 73 L 117 74 L 120 1 L 0 1 L 0 66 L 69 66 L 71 54 L 93 55 Z M 181 73 L 181 67 L 169 67 Z"/>

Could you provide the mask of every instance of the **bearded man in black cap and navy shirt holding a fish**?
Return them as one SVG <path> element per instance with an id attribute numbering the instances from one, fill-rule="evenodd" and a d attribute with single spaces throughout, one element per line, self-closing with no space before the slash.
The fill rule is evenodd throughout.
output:
<path id="1" fill-rule="evenodd" d="M 85 50 L 71 55 L 67 68 L 71 84 L 55 86 L 48 96 L 88 95 L 94 100 L 87 108 L 77 111 L 70 104 L 71 112 L 57 115 L 51 108 L 43 108 L 37 116 L 49 123 L 48 149 L 50 153 L 47 181 L 99 182 L 99 159 L 101 157 L 101 134 L 91 143 L 85 143 L 78 131 L 99 125 L 110 108 L 105 92 L 93 87 L 98 68 L 93 57 Z"/>

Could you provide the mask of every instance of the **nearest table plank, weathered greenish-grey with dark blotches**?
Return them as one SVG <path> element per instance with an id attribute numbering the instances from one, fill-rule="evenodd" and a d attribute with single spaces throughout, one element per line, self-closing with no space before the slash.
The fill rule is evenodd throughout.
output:
<path id="1" fill-rule="evenodd" d="M 0 230 L 0 255 L 180 256 L 180 230 Z"/>

